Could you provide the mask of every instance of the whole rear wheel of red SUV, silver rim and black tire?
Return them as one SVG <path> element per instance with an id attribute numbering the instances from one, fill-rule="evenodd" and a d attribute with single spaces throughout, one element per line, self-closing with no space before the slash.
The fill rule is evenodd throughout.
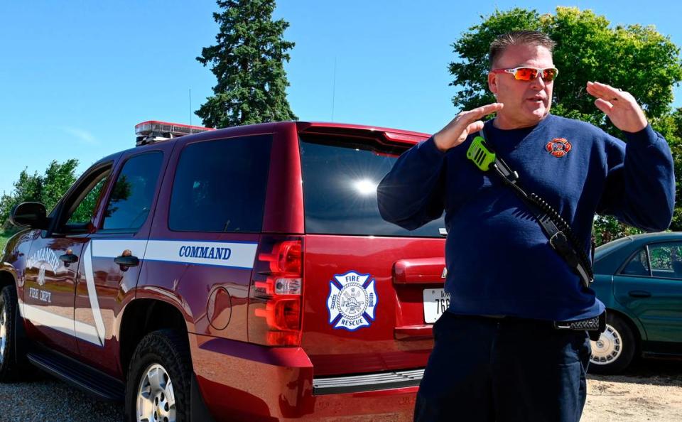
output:
<path id="1" fill-rule="evenodd" d="M 146 335 L 130 362 L 126 420 L 190 421 L 192 364 L 186 338 L 173 330 Z"/>

